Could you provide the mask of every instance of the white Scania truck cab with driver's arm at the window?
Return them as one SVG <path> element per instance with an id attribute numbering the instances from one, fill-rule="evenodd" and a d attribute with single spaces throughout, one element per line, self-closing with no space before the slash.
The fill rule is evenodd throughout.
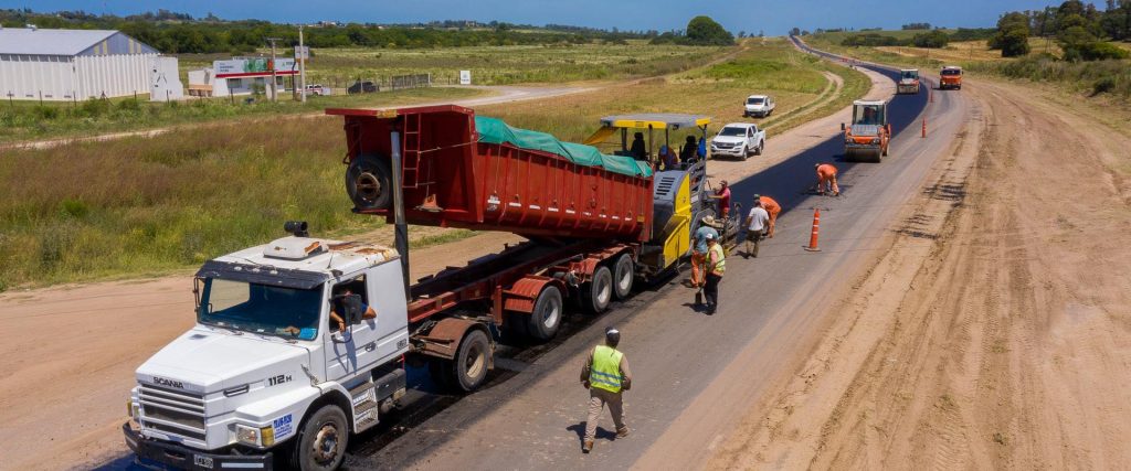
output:
<path id="1" fill-rule="evenodd" d="M 197 272 L 197 324 L 138 367 L 130 392 L 123 431 L 140 464 L 335 469 L 349 434 L 404 395 L 397 251 L 290 227 Z"/>

